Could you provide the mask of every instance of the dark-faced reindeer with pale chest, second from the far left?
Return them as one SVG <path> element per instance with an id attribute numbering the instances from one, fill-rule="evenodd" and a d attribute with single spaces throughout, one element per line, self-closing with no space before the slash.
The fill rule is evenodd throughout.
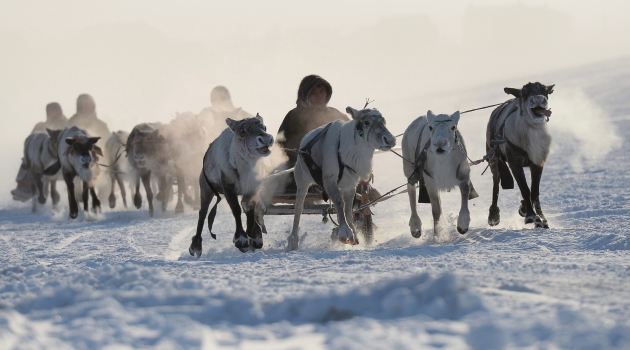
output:
<path id="1" fill-rule="evenodd" d="M 70 204 L 70 218 L 79 214 L 79 206 L 74 195 L 74 178 L 83 181 L 83 210 L 88 211 L 88 191 L 92 196 L 94 212 L 101 209 L 101 201 L 94 190 L 94 181 L 100 173 L 97 161 L 103 156 L 103 151 L 96 146 L 100 137 L 90 137 L 87 131 L 76 126 L 66 129 L 59 137 L 57 155 L 61 163 L 61 174 L 68 187 L 68 202 Z"/>

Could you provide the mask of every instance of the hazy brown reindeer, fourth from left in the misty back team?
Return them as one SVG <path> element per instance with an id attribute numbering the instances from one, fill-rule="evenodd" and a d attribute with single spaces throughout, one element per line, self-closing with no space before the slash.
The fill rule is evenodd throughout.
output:
<path id="1" fill-rule="evenodd" d="M 140 195 L 140 179 L 142 179 L 151 217 L 153 217 L 154 211 L 151 174 L 158 179 L 156 199 L 162 202 L 162 212 L 166 211 L 171 192 L 167 180 L 174 175 L 170 147 L 162 129 L 163 125 L 160 123 L 138 124 L 127 139 L 127 159 L 135 173 L 136 194 L 133 197 L 133 203 L 138 209 L 142 207 L 142 196 Z"/>

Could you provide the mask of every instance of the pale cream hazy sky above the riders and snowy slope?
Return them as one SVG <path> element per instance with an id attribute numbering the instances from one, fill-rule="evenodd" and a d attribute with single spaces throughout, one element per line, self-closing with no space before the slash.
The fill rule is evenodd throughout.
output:
<path id="1" fill-rule="evenodd" d="M 0 156 L 13 178 L 45 105 L 70 117 L 81 93 L 129 131 L 197 113 L 225 85 L 275 130 L 314 73 L 340 110 L 369 97 L 420 115 L 398 101 L 629 56 L 628 13 L 628 1 L 2 0 Z"/>

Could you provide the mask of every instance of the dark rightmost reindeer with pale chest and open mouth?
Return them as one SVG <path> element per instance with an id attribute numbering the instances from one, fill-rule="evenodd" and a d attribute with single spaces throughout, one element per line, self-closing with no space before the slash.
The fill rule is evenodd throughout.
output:
<path id="1" fill-rule="evenodd" d="M 516 98 L 501 104 L 490 115 L 486 131 L 486 149 L 493 154 L 490 161 L 493 180 L 492 205 L 488 214 L 490 226 L 501 221 L 497 206 L 499 183 L 503 189 L 513 189 L 516 179 L 523 197 L 518 213 L 525 218 L 525 224 L 549 228 L 540 207 L 539 194 L 543 167 L 551 147 L 547 122 L 551 116 L 549 95 L 554 86 L 535 82 L 521 89 L 505 88 L 505 93 Z M 525 167 L 531 172 L 531 191 L 523 171 Z"/>

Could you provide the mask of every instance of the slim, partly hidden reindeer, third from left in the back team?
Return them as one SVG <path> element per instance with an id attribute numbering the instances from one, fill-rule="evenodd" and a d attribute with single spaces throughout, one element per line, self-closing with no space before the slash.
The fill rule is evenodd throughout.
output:
<path id="1" fill-rule="evenodd" d="M 110 208 L 116 207 L 116 195 L 114 194 L 116 183 L 118 183 L 118 187 L 120 187 L 120 196 L 123 199 L 123 205 L 125 208 L 127 208 L 127 191 L 125 190 L 125 181 L 129 183 L 129 189 L 132 191 L 131 197 L 134 197 L 135 192 L 133 189 L 135 184 L 132 184 L 132 179 L 134 179 L 135 176 L 132 175 L 132 168 L 129 162 L 121 159 L 123 158 L 128 138 L 128 132 L 119 130 L 112 132 L 105 144 L 105 154 L 107 155 L 110 164 L 109 176 L 112 181 L 111 192 L 109 194 Z"/>

